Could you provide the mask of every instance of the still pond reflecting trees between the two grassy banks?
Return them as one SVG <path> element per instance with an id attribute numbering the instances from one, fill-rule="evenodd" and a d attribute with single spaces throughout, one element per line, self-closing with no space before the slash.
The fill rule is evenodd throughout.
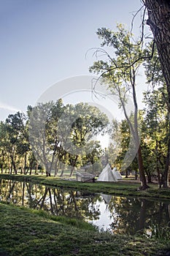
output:
<path id="1" fill-rule="evenodd" d="M 140 231 L 152 235 L 155 228 L 170 225 L 169 201 L 90 194 L 4 179 L 0 180 L 0 200 L 80 218 L 112 233 L 134 235 Z"/>

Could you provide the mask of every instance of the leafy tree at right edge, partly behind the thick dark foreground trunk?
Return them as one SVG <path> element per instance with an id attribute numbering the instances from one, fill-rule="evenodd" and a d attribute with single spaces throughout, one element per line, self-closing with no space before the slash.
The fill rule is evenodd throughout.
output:
<path id="1" fill-rule="evenodd" d="M 149 45 L 149 52 L 151 51 L 151 44 Z M 147 76 L 147 83 L 151 85 L 150 91 L 144 94 L 144 102 L 147 105 L 145 117 L 150 138 L 155 140 L 155 155 L 157 159 L 156 169 L 158 170 L 158 179 L 160 187 L 167 187 L 168 173 L 169 173 L 169 96 L 166 89 L 165 79 L 161 69 L 161 63 L 158 58 L 158 50 L 155 48 L 152 53 L 152 59 L 144 61 L 145 74 Z M 152 131 L 152 132 L 151 132 Z M 159 146 L 160 145 L 160 146 Z M 161 151 L 160 149 L 161 148 Z M 166 154 L 166 157 L 165 157 Z M 163 158 L 163 160 L 160 159 Z M 166 165 L 164 164 L 166 161 Z M 158 162 L 161 163 L 161 170 Z"/>

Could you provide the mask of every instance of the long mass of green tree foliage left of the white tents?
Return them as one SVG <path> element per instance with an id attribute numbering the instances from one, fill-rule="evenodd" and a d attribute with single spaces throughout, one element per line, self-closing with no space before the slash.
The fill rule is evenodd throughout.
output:
<path id="1" fill-rule="evenodd" d="M 23 113 L 9 115 L 0 124 L 1 172 L 28 173 L 41 165 L 47 173 L 71 165 L 93 165 L 101 157 L 101 145 L 93 136 L 107 132 L 108 118 L 98 108 L 79 103 L 57 102 L 28 106 Z M 30 145 L 31 144 L 31 145 Z"/>

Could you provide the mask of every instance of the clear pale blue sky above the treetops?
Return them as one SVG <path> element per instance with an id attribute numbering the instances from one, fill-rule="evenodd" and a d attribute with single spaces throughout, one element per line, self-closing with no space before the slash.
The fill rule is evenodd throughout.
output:
<path id="1" fill-rule="evenodd" d="M 58 81 L 89 75 L 96 59 L 88 50 L 100 46 L 97 29 L 114 30 L 117 23 L 130 27 L 141 7 L 140 0 L 0 0 L 0 4 L 0 120 L 17 110 L 26 112 Z"/>

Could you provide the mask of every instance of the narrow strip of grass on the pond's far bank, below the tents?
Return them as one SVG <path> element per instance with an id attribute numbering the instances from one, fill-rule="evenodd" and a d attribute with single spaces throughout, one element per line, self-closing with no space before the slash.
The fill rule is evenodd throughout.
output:
<path id="1" fill-rule="evenodd" d="M 122 195 L 133 197 L 152 197 L 161 200 L 170 199 L 170 189 L 158 189 L 158 184 L 150 184 L 150 188 L 144 191 L 139 191 L 139 183 L 133 181 L 118 181 L 118 182 L 95 182 L 82 183 L 77 181 L 62 180 L 61 178 L 46 177 L 40 175 L 14 175 L 0 174 L 0 178 L 13 179 L 16 181 L 30 181 L 34 184 L 43 184 L 50 187 L 66 187 L 79 191 L 102 192 L 110 195 Z"/>

